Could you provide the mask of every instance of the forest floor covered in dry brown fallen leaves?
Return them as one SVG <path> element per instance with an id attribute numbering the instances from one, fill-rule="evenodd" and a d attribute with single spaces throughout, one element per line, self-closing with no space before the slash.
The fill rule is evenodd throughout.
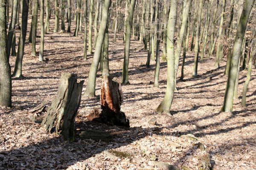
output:
<path id="1" fill-rule="evenodd" d="M 53 30 L 54 19 L 50 22 Z M 28 26 L 28 32 L 29 29 Z M 113 31 L 110 30 L 110 73 L 114 80 L 121 82 L 124 56 L 121 33 L 117 39 L 116 42 L 112 41 Z M 39 51 L 40 38 L 37 38 L 36 48 Z M 155 62 L 151 61 L 150 68 L 145 68 L 147 52 L 140 50 L 142 48 L 139 41 L 131 41 L 131 85 L 122 86 L 124 102 L 121 110 L 130 120 L 131 127 L 123 129 L 87 120 L 86 116 L 94 108 L 100 108 L 102 79 L 98 72 L 96 97 L 82 96 L 75 125 L 76 141 L 69 143 L 32 122 L 29 118 L 32 113 L 26 111 L 47 97 L 49 101 L 54 99 L 63 72 L 76 73 L 79 79 L 84 79 L 84 92 L 93 55 L 88 54 L 88 60 L 82 60 L 83 34 L 79 34 L 79 37 L 65 32 L 46 34 L 45 62 L 38 62 L 38 56 L 30 56 L 31 44 L 26 43 L 24 78 L 12 78 L 13 108 L 0 108 L 0 169 L 137 170 L 154 169 L 157 167 L 156 162 L 164 162 L 179 169 L 186 166 L 195 170 L 198 164 L 203 164 L 201 156 L 205 154 L 205 151 L 196 149 L 195 144 L 198 142 L 204 144 L 210 154 L 213 170 L 256 169 L 255 69 L 248 87 L 247 108 L 240 105 L 247 74 L 247 71 L 241 71 L 239 99 L 234 100 L 233 113 L 219 112 L 227 81 L 223 74 L 226 59 L 221 61 L 219 69 L 215 69 L 213 57 L 200 60 L 199 76 L 192 77 L 194 57 L 193 52 L 188 52 L 184 68 L 185 81 L 177 81 L 178 91 L 175 91 L 172 116 L 165 116 L 157 114 L 155 110 L 166 91 L 166 62 L 161 60 L 160 88 L 153 88 L 149 82 L 154 81 Z M 15 57 L 10 58 L 10 63 L 13 71 Z M 212 76 L 212 80 L 207 79 L 209 76 Z M 156 125 L 148 123 L 152 118 L 157 119 Z M 87 129 L 108 131 L 111 138 L 108 142 L 80 139 L 78 133 Z M 110 154 L 113 150 L 125 154 L 116 158 Z"/>

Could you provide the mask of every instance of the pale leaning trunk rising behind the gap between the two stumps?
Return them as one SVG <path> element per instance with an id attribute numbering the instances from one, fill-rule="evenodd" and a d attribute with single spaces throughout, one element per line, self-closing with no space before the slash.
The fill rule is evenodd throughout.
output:
<path id="1" fill-rule="evenodd" d="M 102 7 L 102 20 L 99 27 L 99 35 L 95 46 L 95 52 L 93 54 L 93 61 L 90 66 L 90 72 L 87 79 L 87 86 L 84 95 L 95 96 L 95 82 L 97 75 L 97 68 L 99 66 L 99 58 L 102 50 L 102 44 L 105 37 L 105 30 L 108 26 L 108 11 L 111 0 L 104 0 Z"/>

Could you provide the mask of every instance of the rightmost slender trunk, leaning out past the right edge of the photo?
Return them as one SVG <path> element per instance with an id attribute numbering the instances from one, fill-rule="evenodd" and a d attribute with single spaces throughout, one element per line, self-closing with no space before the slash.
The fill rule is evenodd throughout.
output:
<path id="1" fill-rule="evenodd" d="M 242 95 L 242 102 L 241 105 L 246 107 L 246 92 L 247 92 L 247 88 L 250 82 L 250 77 L 252 74 L 252 66 L 253 66 L 253 59 L 255 58 L 256 55 L 256 43 L 254 42 L 254 46 L 253 46 L 253 51 L 252 54 L 250 56 L 250 60 L 249 60 L 249 64 L 248 64 L 248 72 L 247 72 L 247 77 L 245 79 L 244 82 L 244 88 L 243 88 L 243 95 Z"/>

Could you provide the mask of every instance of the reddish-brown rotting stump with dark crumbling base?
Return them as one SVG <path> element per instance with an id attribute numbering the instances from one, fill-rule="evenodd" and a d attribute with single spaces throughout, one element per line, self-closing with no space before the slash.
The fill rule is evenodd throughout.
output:
<path id="1" fill-rule="evenodd" d="M 91 113 L 89 120 L 102 122 L 108 125 L 130 127 L 129 120 L 121 110 L 122 88 L 121 84 L 112 80 L 110 76 L 103 76 L 101 87 L 101 113 Z"/>

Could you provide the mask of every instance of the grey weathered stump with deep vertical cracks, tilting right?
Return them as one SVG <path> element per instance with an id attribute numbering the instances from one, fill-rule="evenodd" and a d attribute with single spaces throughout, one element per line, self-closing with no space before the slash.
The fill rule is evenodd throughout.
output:
<path id="1" fill-rule="evenodd" d="M 81 102 L 84 81 L 77 82 L 76 74 L 61 74 L 58 93 L 48 108 L 41 126 L 49 132 L 61 133 L 64 139 L 75 139 L 74 124 Z"/>

